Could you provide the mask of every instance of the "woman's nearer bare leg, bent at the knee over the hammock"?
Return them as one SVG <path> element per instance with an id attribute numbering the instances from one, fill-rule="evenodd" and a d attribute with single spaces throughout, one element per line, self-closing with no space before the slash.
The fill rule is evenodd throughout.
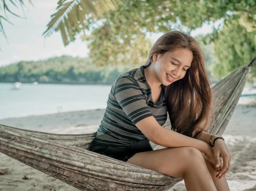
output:
<path id="1" fill-rule="evenodd" d="M 194 147 L 140 152 L 133 155 L 127 163 L 183 178 L 187 191 L 217 191 L 202 153 Z"/>

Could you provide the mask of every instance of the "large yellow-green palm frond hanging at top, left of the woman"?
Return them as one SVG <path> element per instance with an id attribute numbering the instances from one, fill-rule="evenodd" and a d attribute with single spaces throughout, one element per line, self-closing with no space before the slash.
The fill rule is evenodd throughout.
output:
<path id="1" fill-rule="evenodd" d="M 59 0 L 57 12 L 51 15 L 48 28 L 42 36 L 48 37 L 52 32 L 60 30 L 64 46 L 74 40 L 75 31 L 88 29 L 85 15 L 91 13 L 99 19 L 104 18 L 110 10 L 116 10 L 121 0 Z M 62 23 L 62 24 L 61 24 Z M 65 33 L 65 34 L 64 34 Z"/>

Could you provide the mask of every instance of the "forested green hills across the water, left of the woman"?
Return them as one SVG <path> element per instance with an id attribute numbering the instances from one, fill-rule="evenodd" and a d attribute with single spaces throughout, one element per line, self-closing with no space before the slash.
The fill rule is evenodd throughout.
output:
<path id="1" fill-rule="evenodd" d="M 62 56 L 45 61 L 21 61 L 0 68 L 0 82 L 113 84 L 120 74 L 139 66 L 96 67 L 89 58 Z"/>

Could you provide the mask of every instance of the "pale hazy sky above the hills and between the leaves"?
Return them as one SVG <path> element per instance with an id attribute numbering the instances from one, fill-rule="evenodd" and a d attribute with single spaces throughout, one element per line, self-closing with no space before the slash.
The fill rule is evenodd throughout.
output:
<path id="1" fill-rule="evenodd" d="M 19 61 L 38 61 L 46 60 L 51 57 L 60 57 L 62 55 L 70 55 L 72 57 L 88 57 L 89 49 L 87 42 L 82 41 L 79 37 L 73 42 L 70 42 L 67 47 L 64 47 L 61 33 L 53 32 L 50 37 L 42 37 L 43 32 L 47 29 L 47 24 L 51 21 L 51 15 L 56 12 L 58 0 L 32 0 L 34 7 L 28 1 L 24 1 L 24 12 L 27 19 L 21 19 L 7 12 L 9 20 L 13 23 L 3 21 L 3 27 L 7 35 L 7 40 L 3 33 L 0 32 L 0 67 L 7 66 L 11 63 Z M 9 3 L 9 1 L 7 1 Z M 8 8 L 24 17 L 20 5 L 18 8 L 11 3 Z M 5 13 L 0 10 L 0 15 L 5 16 Z M 191 36 L 195 37 L 198 34 L 211 33 L 212 26 L 218 26 L 221 21 L 216 21 L 210 25 L 203 24 L 191 32 Z M 164 33 L 147 33 L 146 37 L 155 42 Z"/>

